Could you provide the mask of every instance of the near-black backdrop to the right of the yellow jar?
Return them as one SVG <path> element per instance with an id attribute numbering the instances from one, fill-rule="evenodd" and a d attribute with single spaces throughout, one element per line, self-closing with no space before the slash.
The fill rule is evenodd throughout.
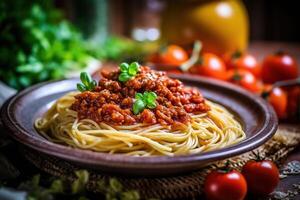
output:
<path id="1" fill-rule="evenodd" d="M 300 1 L 244 0 L 251 40 L 300 42 Z"/>

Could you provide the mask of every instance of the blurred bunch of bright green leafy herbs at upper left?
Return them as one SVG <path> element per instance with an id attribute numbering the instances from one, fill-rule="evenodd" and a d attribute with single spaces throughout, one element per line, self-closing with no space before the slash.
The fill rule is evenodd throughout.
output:
<path id="1" fill-rule="evenodd" d="M 0 27 L 0 80 L 16 89 L 64 78 L 92 58 L 51 1 L 0 1 Z"/>

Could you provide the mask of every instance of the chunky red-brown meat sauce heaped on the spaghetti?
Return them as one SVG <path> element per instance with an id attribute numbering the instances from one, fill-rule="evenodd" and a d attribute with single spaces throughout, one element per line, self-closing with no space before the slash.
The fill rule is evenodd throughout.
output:
<path id="1" fill-rule="evenodd" d="M 118 81 L 119 73 L 119 70 L 103 72 L 103 78 L 93 91 L 75 96 L 71 109 L 77 111 L 79 119 L 113 125 L 176 125 L 190 122 L 190 113 L 210 109 L 197 89 L 184 87 L 182 82 L 169 78 L 164 72 L 140 67 L 138 74 L 125 83 Z M 157 106 L 135 115 L 132 111 L 135 94 L 145 91 L 157 94 Z"/>

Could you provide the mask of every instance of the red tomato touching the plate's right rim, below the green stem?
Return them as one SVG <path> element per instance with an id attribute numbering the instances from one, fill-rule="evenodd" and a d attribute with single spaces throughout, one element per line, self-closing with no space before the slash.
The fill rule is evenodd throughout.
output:
<path id="1" fill-rule="evenodd" d="M 287 116 L 287 104 L 288 104 L 287 93 L 279 87 L 272 88 L 270 85 L 265 86 L 264 93 L 266 92 L 269 93 L 266 96 L 266 99 L 273 106 L 278 118 L 279 119 L 285 118 Z"/>

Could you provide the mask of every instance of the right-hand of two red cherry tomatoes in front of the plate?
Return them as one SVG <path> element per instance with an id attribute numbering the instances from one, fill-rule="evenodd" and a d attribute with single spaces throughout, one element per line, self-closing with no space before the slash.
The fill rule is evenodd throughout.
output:
<path id="1" fill-rule="evenodd" d="M 279 182 L 279 171 L 276 165 L 267 160 L 248 161 L 242 169 L 247 180 L 248 190 L 257 195 L 268 195 Z"/>

